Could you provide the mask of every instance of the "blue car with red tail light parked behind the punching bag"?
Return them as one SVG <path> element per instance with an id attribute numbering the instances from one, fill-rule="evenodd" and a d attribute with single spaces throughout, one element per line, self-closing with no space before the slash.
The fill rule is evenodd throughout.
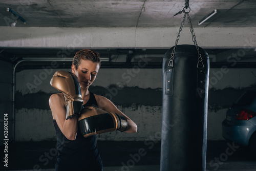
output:
<path id="1" fill-rule="evenodd" d="M 222 122 L 222 136 L 256 152 L 256 90 L 246 91 L 228 109 Z"/>

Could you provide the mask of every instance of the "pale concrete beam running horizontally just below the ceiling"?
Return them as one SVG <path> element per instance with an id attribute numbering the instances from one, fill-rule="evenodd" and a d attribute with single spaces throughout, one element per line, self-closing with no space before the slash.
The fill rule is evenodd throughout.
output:
<path id="1" fill-rule="evenodd" d="M 256 28 L 195 28 L 202 48 L 256 48 Z M 0 27 L 1 48 L 170 48 L 179 28 Z M 178 45 L 191 44 L 183 28 Z"/>

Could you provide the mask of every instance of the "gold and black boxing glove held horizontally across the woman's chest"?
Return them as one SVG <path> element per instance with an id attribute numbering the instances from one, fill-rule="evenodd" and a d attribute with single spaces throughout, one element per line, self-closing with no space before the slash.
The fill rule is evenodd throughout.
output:
<path id="1" fill-rule="evenodd" d="M 128 122 L 122 115 L 88 106 L 81 111 L 78 125 L 83 137 L 89 137 L 116 130 L 123 132 Z"/>

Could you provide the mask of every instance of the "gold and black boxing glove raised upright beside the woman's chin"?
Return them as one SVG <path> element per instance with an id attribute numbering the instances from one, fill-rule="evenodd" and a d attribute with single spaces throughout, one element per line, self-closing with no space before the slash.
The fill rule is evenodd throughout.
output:
<path id="1" fill-rule="evenodd" d="M 75 74 L 68 71 L 56 71 L 51 79 L 51 86 L 64 94 L 66 104 L 66 119 L 79 117 L 83 109 L 81 88 Z"/>

